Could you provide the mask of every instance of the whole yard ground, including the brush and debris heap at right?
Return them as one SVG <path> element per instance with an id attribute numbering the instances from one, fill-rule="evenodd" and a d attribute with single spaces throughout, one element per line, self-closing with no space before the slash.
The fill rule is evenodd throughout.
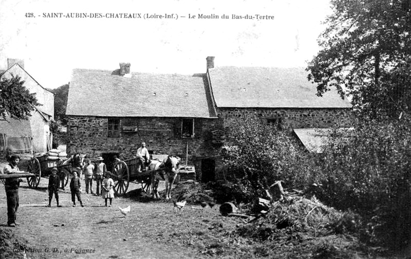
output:
<path id="1" fill-rule="evenodd" d="M 138 184 L 130 184 L 112 207 L 84 192 L 85 207 L 72 207 L 66 188 L 60 191 L 63 207 L 53 198 L 48 208 L 47 184 L 48 178 L 41 178 L 39 187 L 31 189 L 24 179 L 15 228 L 7 226 L 6 193 L 0 185 L 0 259 L 406 257 L 363 244 L 356 217 L 315 197 L 274 202 L 264 216 L 242 218 L 222 216 L 210 200 L 200 206 L 198 201 L 213 196 L 212 190 L 195 182 L 180 183 L 172 192 L 175 200 L 188 201 L 182 210 L 171 201 L 139 195 Z M 220 191 L 223 195 L 227 189 Z M 131 211 L 124 216 L 119 207 L 127 206 Z M 249 212 L 238 207 L 238 213 Z"/>

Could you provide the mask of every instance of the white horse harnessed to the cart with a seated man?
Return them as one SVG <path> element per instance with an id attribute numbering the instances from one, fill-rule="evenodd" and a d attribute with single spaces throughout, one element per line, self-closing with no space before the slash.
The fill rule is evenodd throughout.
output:
<path id="1" fill-rule="evenodd" d="M 163 162 L 158 160 L 151 160 L 150 165 L 148 165 L 148 170 L 159 170 L 156 174 L 161 176 L 163 180 L 165 180 L 165 199 L 169 200 L 171 198 L 171 189 L 173 187 L 174 181 L 176 180 L 178 174 L 178 167 L 181 162 L 181 158 L 174 155 L 168 155 Z M 158 198 L 159 194 L 157 191 L 158 183 L 160 179 L 158 177 L 155 178 L 153 186 L 153 197 Z"/>

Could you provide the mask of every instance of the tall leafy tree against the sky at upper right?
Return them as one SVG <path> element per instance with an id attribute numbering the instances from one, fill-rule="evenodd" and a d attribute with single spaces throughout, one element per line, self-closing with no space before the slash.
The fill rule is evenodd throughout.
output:
<path id="1" fill-rule="evenodd" d="M 411 76 L 411 2 L 332 0 L 333 14 L 309 62 L 317 94 L 330 87 L 352 97 L 364 115 L 408 112 Z"/>

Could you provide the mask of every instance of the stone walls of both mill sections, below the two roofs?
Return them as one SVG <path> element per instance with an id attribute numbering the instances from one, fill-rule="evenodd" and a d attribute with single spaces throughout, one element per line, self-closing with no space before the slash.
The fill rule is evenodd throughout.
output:
<path id="1" fill-rule="evenodd" d="M 212 131 L 230 125 L 233 119 L 244 113 L 256 113 L 261 118 L 282 118 L 283 128 L 326 128 L 339 123 L 350 126 L 350 109 L 218 109 L 218 119 L 195 118 L 193 138 L 181 136 L 182 118 L 173 117 L 121 117 L 120 136 L 108 137 L 108 118 L 96 116 L 70 116 L 67 127 L 69 143 L 67 152 L 85 153 L 96 158 L 104 153 L 118 153 L 121 160 L 133 157 L 141 142 L 155 154 L 174 154 L 196 168 L 196 178 L 201 180 L 201 161 L 218 155 L 220 145 L 212 143 Z M 123 127 L 137 131 L 126 132 Z M 224 167 L 216 159 L 216 178 L 225 178 Z"/>

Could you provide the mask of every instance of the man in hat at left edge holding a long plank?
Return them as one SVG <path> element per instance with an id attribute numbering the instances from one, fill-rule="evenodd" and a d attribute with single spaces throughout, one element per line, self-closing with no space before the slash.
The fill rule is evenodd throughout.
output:
<path id="1" fill-rule="evenodd" d="M 11 155 L 9 158 L 9 164 L 3 169 L 5 174 L 24 173 L 17 167 L 20 162 L 20 156 Z M 7 197 L 7 225 L 9 227 L 16 226 L 16 213 L 18 209 L 18 187 L 20 187 L 20 178 L 7 178 L 4 184 Z"/>

